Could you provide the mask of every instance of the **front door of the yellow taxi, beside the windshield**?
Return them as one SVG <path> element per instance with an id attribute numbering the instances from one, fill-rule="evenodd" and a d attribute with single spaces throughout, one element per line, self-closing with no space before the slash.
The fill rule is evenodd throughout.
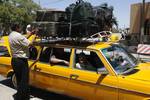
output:
<path id="1" fill-rule="evenodd" d="M 78 55 L 81 52 L 86 55 L 87 60 L 94 67 L 93 69 L 76 67 Z M 100 54 L 82 49 L 76 49 L 74 54 L 74 66 L 70 69 L 68 94 L 86 100 L 117 100 L 117 77 L 109 74 L 106 63 L 100 59 Z M 108 72 L 108 74 L 104 74 L 102 71 Z"/>

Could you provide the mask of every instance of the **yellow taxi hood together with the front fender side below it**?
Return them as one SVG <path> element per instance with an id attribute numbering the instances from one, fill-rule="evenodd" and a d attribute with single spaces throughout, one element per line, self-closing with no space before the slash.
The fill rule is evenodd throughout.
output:
<path id="1" fill-rule="evenodd" d="M 120 75 L 119 88 L 150 95 L 150 63 L 140 63 L 129 73 Z"/>

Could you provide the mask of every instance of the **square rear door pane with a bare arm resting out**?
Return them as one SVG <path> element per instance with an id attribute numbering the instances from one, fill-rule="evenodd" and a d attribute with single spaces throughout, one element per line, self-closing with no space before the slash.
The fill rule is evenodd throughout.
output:
<path id="1" fill-rule="evenodd" d="M 71 49 L 53 48 L 50 57 L 50 64 L 69 67 Z"/>

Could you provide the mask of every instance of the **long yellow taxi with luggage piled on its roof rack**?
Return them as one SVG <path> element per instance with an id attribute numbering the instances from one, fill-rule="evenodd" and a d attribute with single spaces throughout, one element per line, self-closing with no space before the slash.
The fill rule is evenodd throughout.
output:
<path id="1" fill-rule="evenodd" d="M 30 85 L 85 100 L 150 99 L 150 62 L 137 60 L 120 44 L 49 42 L 30 48 Z M 15 85 L 10 50 L 3 46 L 0 73 Z"/>

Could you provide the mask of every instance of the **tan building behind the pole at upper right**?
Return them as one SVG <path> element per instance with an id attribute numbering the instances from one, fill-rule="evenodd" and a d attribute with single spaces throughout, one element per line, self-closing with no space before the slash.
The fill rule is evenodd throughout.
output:
<path id="1" fill-rule="evenodd" d="M 140 35 L 142 25 L 143 4 L 132 4 L 130 11 L 130 33 Z M 145 3 L 144 35 L 150 35 L 150 2 Z"/>

